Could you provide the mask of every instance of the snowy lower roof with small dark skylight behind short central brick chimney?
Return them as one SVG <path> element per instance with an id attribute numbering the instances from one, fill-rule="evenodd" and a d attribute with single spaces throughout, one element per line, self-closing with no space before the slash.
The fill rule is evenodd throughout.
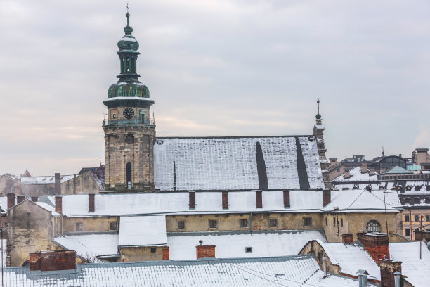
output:
<path id="1" fill-rule="evenodd" d="M 171 260 L 195 259 L 200 240 L 204 245 L 215 245 L 217 258 L 273 257 L 297 255 L 314 239 L 327 241 L 323 230 L 171 232 L 167 245 Z M 247 253 L 245 247 L 252 252 Z"/>

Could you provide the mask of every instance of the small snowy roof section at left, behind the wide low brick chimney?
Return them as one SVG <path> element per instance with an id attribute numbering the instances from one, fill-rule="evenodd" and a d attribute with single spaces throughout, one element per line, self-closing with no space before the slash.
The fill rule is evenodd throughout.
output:
<path id="1" fill-rule="evenodd" d="M 101 262 L 96 256 L 118 254 L 118 239 L 118 234 L 93 233 L 58 236 L 52 241 L 90 262 Z"/>

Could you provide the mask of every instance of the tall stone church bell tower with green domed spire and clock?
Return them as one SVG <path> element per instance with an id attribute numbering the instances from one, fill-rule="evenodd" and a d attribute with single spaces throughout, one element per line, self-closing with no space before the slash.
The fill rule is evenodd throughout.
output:
<path id="1" fill-rule="evenodd" d="M 107 106 L 103 117 L 106 191 L 154 188 L 155 121 L 150 112 L 154 101 L 148 87 L 138 80 L 139 43 L 131 35 L 129 17 L 127 11 L 125 34 L 118 42 L 119 80 L 109 87 L 103 101 Z"/>

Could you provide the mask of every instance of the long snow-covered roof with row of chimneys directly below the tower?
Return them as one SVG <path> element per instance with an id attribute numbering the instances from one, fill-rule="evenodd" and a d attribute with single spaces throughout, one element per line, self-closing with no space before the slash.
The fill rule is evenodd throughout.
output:
<path id="1" fill-rule="evenodd" d="M 202 212 L 319 212 L 323 191 L 290 191 L 291 208 L 284 208 L 282 191 L 263 191 L 263 208 L 256 208 L 255 191 L 229 191 L 228 210 L 223 210 L 221 191 L 195 193 L 195 210 L 188 205 L 188 192 L 96 194 L 95 210 L 88 212 L 88 195 L 63 196 L 63 215 L 148 215 Z M 54 205 L 55 198 L 48 196 Z M 126 208 L 120 208 L 126 207 Z"/>

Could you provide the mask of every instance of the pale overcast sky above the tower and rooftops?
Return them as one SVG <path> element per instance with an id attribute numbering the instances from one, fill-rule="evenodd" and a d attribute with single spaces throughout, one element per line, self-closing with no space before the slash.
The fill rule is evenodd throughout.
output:
<path id="1" fill-rule="evenodd" d="M 329 157 L 429 148 L 430 2 L 129 1 L 158 136 L 311 134 Z M 0 174 L 104 164 L 126 1 L 0 0 Z"/>

